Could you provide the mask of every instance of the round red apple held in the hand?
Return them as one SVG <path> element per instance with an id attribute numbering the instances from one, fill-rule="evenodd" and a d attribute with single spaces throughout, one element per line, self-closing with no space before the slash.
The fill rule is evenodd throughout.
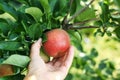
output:
<path id="1" fill-rule="evenodd" d="M 43 49 L 51 57 L 57 58 L 65 55 L 70 47 L 70 38 L 65 30 L 53 29 L 48 31 L 46 38 L 47 41 L 43 43 Z"/>

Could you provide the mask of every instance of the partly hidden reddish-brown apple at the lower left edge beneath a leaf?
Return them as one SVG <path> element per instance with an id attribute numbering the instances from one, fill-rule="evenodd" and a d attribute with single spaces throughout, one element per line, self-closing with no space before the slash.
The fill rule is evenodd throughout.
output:
<path id="1" fill-rule="evenodd" d="M 12 65 L 8 65 L 8 64 L 1 64 L 0 65 L 0 77 L 12 75 L 13 73 L 14 72 L 13 72 Z"/>

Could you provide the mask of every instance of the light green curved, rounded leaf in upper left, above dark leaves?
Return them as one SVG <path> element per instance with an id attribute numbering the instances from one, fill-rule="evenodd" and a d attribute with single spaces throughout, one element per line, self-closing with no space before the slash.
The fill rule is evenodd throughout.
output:
<path id="1" fill-rule="evenodd" d="M 30 14 L 35 19 L 36 22 L 39 22 L 43 15 L 42 11 L 37 7 L 26 8 L 25 12 Z"/>

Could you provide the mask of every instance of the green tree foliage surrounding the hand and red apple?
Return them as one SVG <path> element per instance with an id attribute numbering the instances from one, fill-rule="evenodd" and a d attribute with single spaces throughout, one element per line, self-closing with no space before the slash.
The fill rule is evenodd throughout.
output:
<path id="1" fill-rule="evenodd" d="M 119 3 L 119 0 L 0 0 L 0 63 L 11 64 L 16 70 L 13 76 L 0 80 L 22 80 L 31 44 L 54 28 L 68 31 L 71 44 L 76 47 L 66 80 L 120 79 L 113 76 L 112 62 L 102 60 L 97 64 L 94 60 L 97 50 L 93 48 L 89 55 L 85 54 L 81 44 L 81 29 L 89 28 L 96 30 L 95 36 L 106 34 L 120 41 Z M 84 52 L 83 57 L 80 52 Z"/>

